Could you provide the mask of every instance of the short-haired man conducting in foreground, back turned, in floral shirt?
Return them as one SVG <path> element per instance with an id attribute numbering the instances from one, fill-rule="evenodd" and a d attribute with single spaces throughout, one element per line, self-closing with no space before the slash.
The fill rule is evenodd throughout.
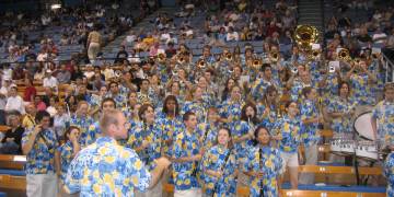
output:
<path id="1" fill-rule="evenodd" d="M 120 147 L 116 142 L 116 140 L 127 138 L 128 126 L 121 112 L 108 109 L 104 113 L 100 119 L 103 137 L 80 151 L 72 160 L 65 181 L 63 188 L 67 193 L 81 192 L 82 196 L 104 194 L 131 196 L 135 189 L 144 192 L 155 186 L 171 162 L 165 158 L 160 158 L 155 162 L 154 170 L 148 172 L 134 150 Z M 112 160 L 109 161 L 108 158 Z M 114 174 L 118 176 L 112 176 Z M 95 175 L 112 178 L 101 184 L 94 178 Z M 128 182 L 129 177 L 134 177 L 134 181 Z M 108 184 L 115 187 L 107 187 Z"/>

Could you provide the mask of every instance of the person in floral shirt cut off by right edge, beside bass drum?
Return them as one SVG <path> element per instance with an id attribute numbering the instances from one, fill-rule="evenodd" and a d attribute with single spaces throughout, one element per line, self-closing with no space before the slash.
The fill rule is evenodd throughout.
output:
<path id="1" fill-rule="evenodd" d="M 372 129 L 378 142 L 394 144 L 394 83 L 386 83 L 383 89 L 384 100 L 372 111 Z"/>

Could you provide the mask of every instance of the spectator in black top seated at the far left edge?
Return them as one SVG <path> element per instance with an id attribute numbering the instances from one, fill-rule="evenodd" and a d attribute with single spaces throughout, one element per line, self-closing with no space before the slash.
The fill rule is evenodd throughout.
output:
<path id="1" fill-rule="evenodd" d="M 21 126 L 21 114 L 13 112 L 8 115 L 8 126 L 11 128 L 7 130 L 1 140 L 0 153 L 1 154 L 22 154 L 22 135 L 24 128 Z"/>

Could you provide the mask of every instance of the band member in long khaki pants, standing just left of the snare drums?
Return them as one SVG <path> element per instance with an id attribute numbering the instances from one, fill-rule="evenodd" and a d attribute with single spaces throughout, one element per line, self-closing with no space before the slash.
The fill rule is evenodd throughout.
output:
<path id="1" fill-rule="evenodd" d="M 301 105 L 301 139 L 305 147 L 305 165 L 317 164 L 317 143 L 321 140 L 318 132 L 318 123 L 323 121 L 316 105 L 316 89 L 306 86 L 302 90 L 305 99 Z M 301 174 L 301 184 L 313 184 L 314 174 Z"/>

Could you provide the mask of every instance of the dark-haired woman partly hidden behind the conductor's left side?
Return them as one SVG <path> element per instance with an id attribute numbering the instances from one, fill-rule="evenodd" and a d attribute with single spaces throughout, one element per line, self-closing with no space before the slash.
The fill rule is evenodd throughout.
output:
<path id="1" fill-rule="evenodd" d="M 79 127 L 69 127 L 65 132 L 65 143 L 61 144 L 55 152 L 56 172 L 60 177 L 61 186 L 65 184 L 67 170 L 69 169 L 72 159 L 81 150 L 81 147 L 78 142 L 80 134 L 81 131 Z M 60 196 L 63 196 L 62 193 Z"/>

